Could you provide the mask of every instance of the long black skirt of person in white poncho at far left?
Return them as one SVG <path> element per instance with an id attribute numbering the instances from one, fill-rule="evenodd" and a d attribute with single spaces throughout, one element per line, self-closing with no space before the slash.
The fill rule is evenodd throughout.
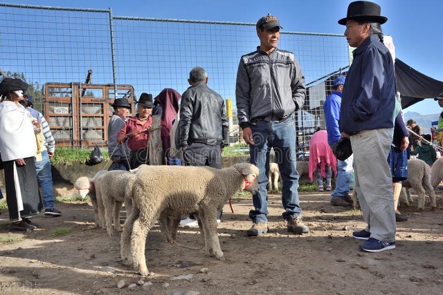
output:
<path id="1" fill-rule="evenodd" d="M 22 217 L 34 216 L 43 209 L 42 198 L 39 195 L 37 175 L 35 174 L 35 158 L 25 158 L 26 165 L 15 165 L 15 161 L 3 162 L 5 167 L 6 202 L 9 219 L 21 220 Z M 14 166 L 17 167 L 17 179 L 14 177 Z M 23 210 L 19 212 L 17 204 L 16 183 L 19 184 Z"/>

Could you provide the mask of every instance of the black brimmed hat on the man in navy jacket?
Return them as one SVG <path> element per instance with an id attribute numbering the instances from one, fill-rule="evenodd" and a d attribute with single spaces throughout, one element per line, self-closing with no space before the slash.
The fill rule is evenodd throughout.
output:
<path id="1" fill-rule="evenodd" d="M 370 1 L 354 1 L 347 6 L 347 16 L 339 20 L 338 23 L 345 26 L 348 19 L 370 23 L 386 23 L 388 18 L 382 17 L 380 13 L 381 8 L 376 3 Z"/>

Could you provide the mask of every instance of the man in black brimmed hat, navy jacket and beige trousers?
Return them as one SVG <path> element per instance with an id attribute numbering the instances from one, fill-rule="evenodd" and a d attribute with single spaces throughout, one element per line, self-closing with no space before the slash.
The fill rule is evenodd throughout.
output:
<path id="1" fill-rule="evenodd" d="M 395 249 L 395 209 L 387 158 L 395 113 L 394 63 L 383 44 L 381 8 L 355 1 L 347 8 L 345 37 L 356 47 L 341 98 L 340 130 L 351 140 L 355 189 L 368 226 L 352 236 L 365 240 L 362 251 Z"/>

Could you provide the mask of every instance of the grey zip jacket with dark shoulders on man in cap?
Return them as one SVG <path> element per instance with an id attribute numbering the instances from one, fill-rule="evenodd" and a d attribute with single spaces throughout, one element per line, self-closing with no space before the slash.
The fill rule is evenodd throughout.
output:
<path id="1" fill-rule="evenodd" d="M 237 71 L 235 98 L 242 129 L 251 120 L 280 121 L 305 103 L 305 75 L 293 53 L 275 48 L 243 55 Z"/>

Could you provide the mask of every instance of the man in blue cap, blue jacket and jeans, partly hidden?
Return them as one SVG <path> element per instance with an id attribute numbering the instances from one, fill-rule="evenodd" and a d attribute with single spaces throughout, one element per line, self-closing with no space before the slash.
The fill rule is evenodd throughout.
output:
<path id="1" fill-rule="evenodd" d="M 327 143 L 334 146 L 340 140 L 340 129 L 338 121 L 340 120 L 341 92 L 345 85 L 345 76 L 339 76 L 334 79 L 334 91 L 326 98 L 323 109 L 325 111 L 325 122 L 327 131 Z M 350 181 L 352 177 L 352 163 L 354 155 L 350 155 L 344 161 L 337 160 L 337 180 L 335 189 L 331 193 L 331 204 L 334 206 L 350 207 L 352 198 L 349 196 Z"/>

